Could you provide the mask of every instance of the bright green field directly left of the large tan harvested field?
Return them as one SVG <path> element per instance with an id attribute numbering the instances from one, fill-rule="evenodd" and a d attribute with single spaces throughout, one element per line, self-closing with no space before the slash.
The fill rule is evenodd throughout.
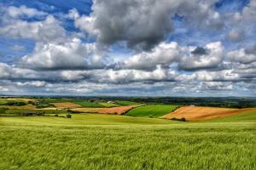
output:
<path id="1" fill-rule="evenodd" d="M 160 117 L 172 112 L 176 105 L 144 105 L 128 111 L 126 116 Z"/>

